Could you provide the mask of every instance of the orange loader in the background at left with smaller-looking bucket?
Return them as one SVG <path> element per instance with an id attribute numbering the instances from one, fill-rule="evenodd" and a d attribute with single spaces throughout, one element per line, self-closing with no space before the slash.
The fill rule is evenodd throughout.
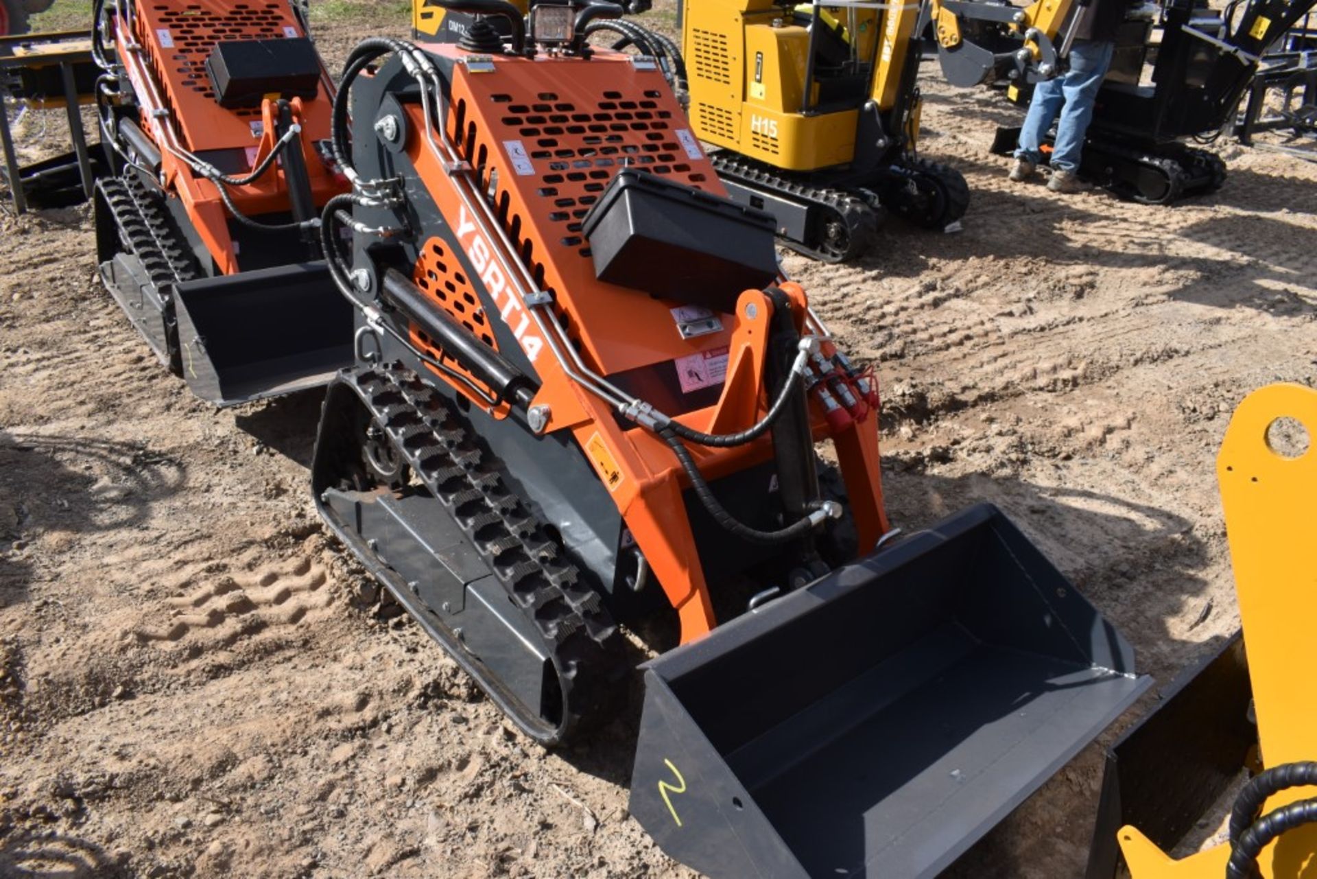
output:
<path id="1" fill-rule="evenodd" d="M 317 227 L 348 181 L 324 148 L 335 84 L 300 7 L 97 0 L 92 37 L 105 286 L 207 401 L 325 383 L 352 361 L 352 310 Z"/>

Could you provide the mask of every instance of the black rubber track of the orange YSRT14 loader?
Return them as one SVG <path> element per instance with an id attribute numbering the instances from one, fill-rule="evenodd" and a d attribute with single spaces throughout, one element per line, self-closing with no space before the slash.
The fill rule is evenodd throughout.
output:
<path id="1" fill-rule="evenodd" d="M 508 692 L 491 673 L 461 626 L 445 621 L 449 604 L 432 606 L 425 584 L 404 580 L 391 567 L 403 555 L 377 536 L 366 536 L 353 522 L 361 522 L 361 505 L 375 492 L 348 493 L 327 488 L 327 449 L 316 449 L 312 481 L 321 515 L 338 536 L 377 576 L 425 631 L 440 642 L 490 698 L 527 735 L 544 745 L 565 741 L 578 721 L 602 697 L 608 671 L 619 660 L 619 635 L 599 594 L 583 582 L 581 572 L 548 536 L 545 523 L 531 511 L 500 474 L 497 459 L 482 448 L 470 427 L 440 394 L 415 372 L 400 364 L 348 370 L 331 386 L 325 418 L 333 415 L 336 395 L 352 393 L 381 428 L 399 463 L 429 493 L 424 501 L 441 507 L 443 515 L 465 538 L 465 546 L 506 590 L 525 621 L 520 634 L 537 633 L 539 647 L 551 659 L 561 691 L 562 712 L 544 717 Z M 356 507 L 356 509 L 353 509 Z M 354 518 L 353 518 L 354 517 Z M 427 561 L 429 561 L 427 559 Z M 468 559 L 468 563 L 471 559 Z M 432 569 L 439 572 L 450 556 L 441 553 Z M 468 598 L 468 604 L 471 604 Z"/>

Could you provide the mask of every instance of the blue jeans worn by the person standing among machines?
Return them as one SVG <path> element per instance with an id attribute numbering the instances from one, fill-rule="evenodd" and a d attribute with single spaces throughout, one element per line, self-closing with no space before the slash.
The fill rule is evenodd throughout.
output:
<path id="1" fill-rule="evenodd" d="M 1038 83 L 1034 100 L 1029 104 L 1025 127 L 1019 130 L 1019 149 L 1015 158 L 1035 165 L 1043 159 L 1043 140 L 1060 113 L 1056 124 L 1056 142 L 1052 148 L 1052 167 L 1073 171 L 1084 152 L 1084 133 L 1093 121 L 1093 101 L 1102 86 L 1106 69 L 1112 66 L 1114 42 L 1076 40 L 1071 45 L 1069 70 L 1064 75 Z"/>

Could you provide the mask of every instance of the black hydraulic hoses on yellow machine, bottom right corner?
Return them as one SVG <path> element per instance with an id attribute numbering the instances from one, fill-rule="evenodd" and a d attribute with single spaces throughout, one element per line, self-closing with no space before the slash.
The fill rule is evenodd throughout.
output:
<path id="1" fill-rule="evenodd" d="M 1317 824 L 1317 797 L 1284 805 L 1263 816 L 1267 800 L 1289 788 L 1317 784 L 1317 763 L 1285 763 L 1251 779 L 1230 812 L 1230 861 L 1226 879 L 1256 879 L 1258 855 L 1267 845 L 1295 828 Z M 1260 816 L 1260 817 L 1259 817 Z"/>

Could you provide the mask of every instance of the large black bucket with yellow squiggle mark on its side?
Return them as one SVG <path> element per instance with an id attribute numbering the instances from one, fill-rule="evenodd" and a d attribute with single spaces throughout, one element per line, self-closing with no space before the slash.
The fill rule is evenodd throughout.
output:
<path id="1" fill-rule="evenodd" d="M 718 876 L 934 876 L 1148 687 L 990 505 L 645 666 L 631 812 Z"/>

